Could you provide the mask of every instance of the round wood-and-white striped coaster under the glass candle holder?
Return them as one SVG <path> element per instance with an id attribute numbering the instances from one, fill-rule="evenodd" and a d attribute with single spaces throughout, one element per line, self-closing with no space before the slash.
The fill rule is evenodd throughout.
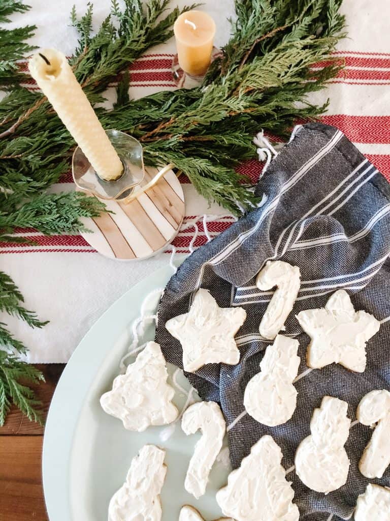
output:
<path id="1" fill-rule="evenodd" d="M 148 168 L 144 182 L 150 181 L 156 171 Z M 105 203 L 113 213 L 85 219 L 84 224 L 92 233 L 82 235 L 95 250 L 109 258 L 151 257 L 172 242 L 183 222 L 183 189 L 172 170 L 128 204 Z"/>

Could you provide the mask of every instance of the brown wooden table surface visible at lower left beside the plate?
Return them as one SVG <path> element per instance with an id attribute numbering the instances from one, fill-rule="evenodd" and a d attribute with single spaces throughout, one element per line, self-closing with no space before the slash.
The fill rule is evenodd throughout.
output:
<path id="1" fill-rule="evenodd" d="M 45 417 L 64 364 L 37 365 L 46 382 L 36 387 Z M 0 428 L 0 521 L 48 521 L 42 488 L 43 428 L 16 408 Z"/>

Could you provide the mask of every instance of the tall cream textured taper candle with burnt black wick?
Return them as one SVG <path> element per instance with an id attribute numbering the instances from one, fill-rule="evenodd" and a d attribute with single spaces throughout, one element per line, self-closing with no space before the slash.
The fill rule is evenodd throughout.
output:
<path id="1" fill-rule="evenodd" d="M 66 56 L 55 49 L 43 49 L 32 56 L 29 70 L 99 177 L 105 181 L 120 177 L 122 162 Z"/>

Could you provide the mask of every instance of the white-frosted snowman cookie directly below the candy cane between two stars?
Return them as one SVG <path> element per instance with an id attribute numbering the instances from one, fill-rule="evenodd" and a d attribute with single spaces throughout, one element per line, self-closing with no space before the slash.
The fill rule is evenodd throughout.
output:
<path id="1" fill-rule="evenodd" d="M 278 334 L 260 363 L 261 373 L 245 388 L 244 407 L 256 421 L 275 427 L 288 421 L 296 408 L 297 391 L 292 382 L 298 374 L 299 342 Z"/>

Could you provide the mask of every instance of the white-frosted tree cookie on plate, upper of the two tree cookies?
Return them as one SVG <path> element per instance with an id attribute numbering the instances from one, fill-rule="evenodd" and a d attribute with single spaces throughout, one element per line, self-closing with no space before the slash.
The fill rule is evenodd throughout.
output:
<path id="1" fill-rule="evenodd" d="M 126 374 L 114 379 L 112 391 L 101 396 L 100 404 L 128 430 L 141 432 L 150 425 L 170 424 L 178 411 L 172 403 L 175 391 L 167 378 L 160 345 L 148 342 Z"/>

